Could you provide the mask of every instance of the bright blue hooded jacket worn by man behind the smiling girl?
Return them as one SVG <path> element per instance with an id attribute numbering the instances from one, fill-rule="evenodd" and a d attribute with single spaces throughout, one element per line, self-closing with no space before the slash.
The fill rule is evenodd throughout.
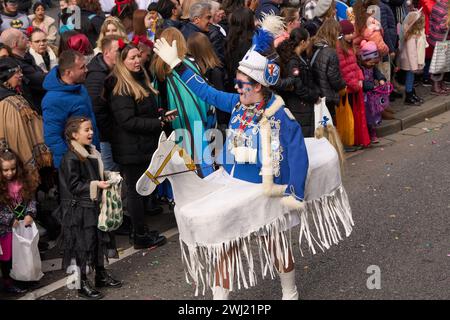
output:
<path id="1" fill-rule="evenodd" d="M 59 67 L 54 67 L 45 77 L 44 89 L 47 93 L 42 99 L 45 143 L 53 153 L 53 164 L 59 167 L 61 158 L 67 151 L 64 128 L 72 116 L 85 116 L 91 119 L 94 128 L 94 145 L 99 148 L 99 135 L 92 110 L 91 98 L 82 84 L 68 85 L 59 77 Z"/>

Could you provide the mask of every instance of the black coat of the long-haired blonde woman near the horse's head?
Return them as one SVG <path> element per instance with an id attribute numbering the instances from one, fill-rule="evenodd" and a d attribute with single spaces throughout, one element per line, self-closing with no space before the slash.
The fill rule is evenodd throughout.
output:
<path id="1" fill-rule="evenodd" d="M 142 71 L 133 76 L 146 87 Z M 114 95 L 115 79 L 110 78 L 108 82 L 114 125 L 110 140 L 114 161 L 121 165 L 150 163 L 162 131 L 154 94 L 150 93 L 138 102 L 131 95 Z"/>

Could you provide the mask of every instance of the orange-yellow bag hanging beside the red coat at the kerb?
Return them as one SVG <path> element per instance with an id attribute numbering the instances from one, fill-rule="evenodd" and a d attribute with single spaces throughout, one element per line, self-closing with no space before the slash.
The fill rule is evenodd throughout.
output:
<path id="1" fill-rule="evenodd" d="M 339 106 L 336 108 L 336 129 L 344 145 L 353 146 L 355 144 L 355 122 L 352 108 L 348 102 L 348 94 L 345 95 L 345 99 L 341 98 Z"/>

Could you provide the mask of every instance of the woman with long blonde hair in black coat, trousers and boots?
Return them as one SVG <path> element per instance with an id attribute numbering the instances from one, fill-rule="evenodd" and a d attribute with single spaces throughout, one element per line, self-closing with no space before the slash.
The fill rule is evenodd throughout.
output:
<path id="1" fill-rule="evenodd" d="M 119 53 L 112 76 L 106 81 L 105 97 L 110 102 L 114 132 L 110 142 L 114 162 L 121 166 L 127 180 L 128 212 L 133 226 L 134 248 L 163 245 L 164 236 L 149 231 L 144 222 L 148 200 L 136 192 L 136 182 L 158 147 L 166 121 L 157 105 L 157 90 L 141 65 L 141 52 L 133 43 L 119 39 Z"/>

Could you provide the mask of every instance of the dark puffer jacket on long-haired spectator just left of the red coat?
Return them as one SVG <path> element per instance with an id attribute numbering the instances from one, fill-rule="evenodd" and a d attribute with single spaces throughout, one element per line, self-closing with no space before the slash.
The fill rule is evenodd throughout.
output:
<path id="1" fill-rule="evenodd" d="M 345 81 L 342 79 L 339 70 L 339 58 L 336 50 L 330 48 L 326 43 L 319 42 L 314 45 L 313 57 L 311 61 L 315 83 L 320 88 L 320 95 L 326 97 L 327 107 L 331 115 L 334 115 L 334 107 L 339 104 L 339 91 L 345 88 Z"/>

